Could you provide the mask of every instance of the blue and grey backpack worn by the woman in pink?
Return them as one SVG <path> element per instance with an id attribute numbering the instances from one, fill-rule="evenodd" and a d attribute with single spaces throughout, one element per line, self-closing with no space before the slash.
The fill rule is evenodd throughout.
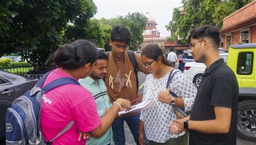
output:
<path id="1" fill-rule="evenodd" d="M 15 99 L 12 106 L 6 110 L 6 144 L 44 144 L 40 132 L 42 97 L 44 97 L 44 94 L 49 90 L 61 85 L 79 85 L 75 79 L 59 78 L 51 81 L 51 83 L 42 88 L 50 72 L 44 74 L 31 90 Z M 47 101 L 47 99 L 44 101 Z M 68 125 L 50 142 L 53 142 L 61 134 L 64 134 L 72 127 L 73 123 L 74 121 L 70 121 L 70 123 L 68 123 Z"/>

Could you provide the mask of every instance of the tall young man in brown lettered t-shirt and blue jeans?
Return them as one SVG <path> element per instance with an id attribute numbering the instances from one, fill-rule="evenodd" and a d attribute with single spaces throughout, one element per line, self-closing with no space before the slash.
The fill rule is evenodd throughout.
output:
<path id="1" fill-rule="evenodd" d="M 106 86 L 111 102 L 118 98 L 130 100 L 133 104 L 141 102 L 141 96 L 138 95 L 138 79 L 134 66 L 132 65 L 127 53 L 130 41 L 130 32 L 124 26 L 115 26 L 111 31 L 109 45 L 112 51 L 108 55 L 107 74 L 105 76 Z M 142 72 L 147 71 L 142 67 L 140 57 L 134 53 L 138 62 L 138 69 Z M 138 142 L 139 114 L 116 118 L 113 122 L 113 140 L 116 145 L 125 144 L 124 121 L 129 126 L 136 144 Z"/>

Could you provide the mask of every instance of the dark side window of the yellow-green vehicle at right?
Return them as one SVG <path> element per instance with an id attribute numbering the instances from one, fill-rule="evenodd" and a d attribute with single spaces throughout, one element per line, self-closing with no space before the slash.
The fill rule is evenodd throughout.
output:
<path id="1" fill-rule="evenodd" d="M 237 74 L 250 75 L 252 74 L 253 53 L 241 52 L 238 55 Z"/>

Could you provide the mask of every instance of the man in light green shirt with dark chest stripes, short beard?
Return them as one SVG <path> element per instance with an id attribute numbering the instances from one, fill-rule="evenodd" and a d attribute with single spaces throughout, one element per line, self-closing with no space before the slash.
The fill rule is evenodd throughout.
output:
<path id="1" fill-rule="evenodd" d="M 111 107 L 109 96 L 107 93 L 106 85 L 103 81 L 104 76 L 107 73 L 108 55 L 99 50 L 99 57 L 97 59 L 97 64 L 94 71 L 90 76 L 86 78 L 79 79 L 79 83 L 89 90 L 93 99 L 96 102 L 97 111 L 100 117 L 104 116 Z M 88 140 L 87 144 L 90 145 L 101 145 L 101 144 L 111 144 L 113 142 L 113 132 L 111 128 L 108 129 L 106 134 L 100 138 L 92 137 Z"/>

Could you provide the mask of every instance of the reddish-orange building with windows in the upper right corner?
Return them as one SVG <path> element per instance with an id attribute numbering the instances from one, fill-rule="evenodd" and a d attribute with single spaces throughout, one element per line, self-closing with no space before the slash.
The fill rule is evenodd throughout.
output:
<path id="1" fill-rule="evenodd" d="M 237 43 L 256 43 L 256 1 L 223 19 L 221 39 L 226 50 Z"/>

